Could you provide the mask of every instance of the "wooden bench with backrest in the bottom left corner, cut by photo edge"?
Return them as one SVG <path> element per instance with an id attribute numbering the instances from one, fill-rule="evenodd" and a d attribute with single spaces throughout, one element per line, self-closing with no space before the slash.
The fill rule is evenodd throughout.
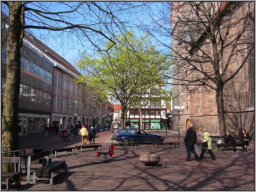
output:
<path id="1" fill-rule="evenodd" d="M 2 157 L 1 163 L 14 163 L 14 172 L 1 172 L 1 181 L 6 181 L 6 190 L 10 189 L 12 183 L 15 182 L 15 187 L 20 186 L 20 174 L 21 174 L 21 157 Z M 15 165 L 18 165 L 18 170 Z"/>

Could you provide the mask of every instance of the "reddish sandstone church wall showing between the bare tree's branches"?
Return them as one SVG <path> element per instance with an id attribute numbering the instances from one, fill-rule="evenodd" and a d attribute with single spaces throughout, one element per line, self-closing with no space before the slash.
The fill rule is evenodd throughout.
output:
<path id="1" fill-rule="evenodd" d="M 209 41 L 206 36 L 197 36 L 195 30 L 192 31 L 193 26 L 193 14 L 199 14 L 200 6 L 204 4 L 207 7 L 207 2 L 196 2 L 194 3 L 194 7 L 191 6 L 191 2 L 172 2 L 172 16 L 171 16 L 171 25 L 172 25 L 172 46 L 174 49 L 174 53 L 179 55 L 181 54 L 189 54 L 188 50 L 189 47 L 186 48 L 189 42 L 193 44 L 197 42 L 199 38 L 205 38 L 204 44 L 201 46 L 199 45 L 198 49 L 209 51 L 211 53 L 211 45 L 208 45 L 207 42 Z M 215 11 L 216 15 L 214 17 L 225 17 L 220 24 L 221 28 L 225 28 L 230 23 L 226 22 L 228 18 L 232 18 L 231 22 L 236 23 L 236 19 L 244 17 L 244 10 L 250 10 L 253 12 L 251 25 L 247 25 L 245 30 L 244 37 L 247 38 L 248 43 L 254 41 L 254 3 L 248 2 L 215 2 L 215 6 L 218 6 L 217 11 Z M 215 7 L 216 8 L 216 7 Z M 198 12 L 196 12 L 198 11 Z M 224 14 L 228 13 L 227 15 Z M 232 12 L 231 12 L 232 11 Z M 212 11 L 214 12 L 214 11 Z M 186 18 L 187 20 L 190 19 L 190 22 L 187 23 L 185 26 L 185 22 L 182 22 L 181 18 Z M 225 15 L 225 16 L 223 16 Z M 233 17 L 234 16 L 234 17 Z M 195 17 L 197 18 L 197 17 Z M 250 19 L 250 17 L 248 17 Z M 196 21 L 195 21 L 196 22 Z M 181 26 L 181 24 L 183 26 Z M 179 26 L 180 25 L 180 26 Z M 206 26 L 202 26 L 206 27 Z M 242 25 L 232 25 L 228 28 L 228 31 L 221 31 L 223 34 L 226 33 L 227 37 L 232 39 L 232 36 L 236 35 L 237 31 L 240 31 L 241 28 L 244 27 Z M 181 30 L 182 28 L 182 30 Z M 182 31 L 182 32 L 181 32 Z M 198 29 L 198 32 L 200 30 Z M 180 33 L 180 36 L 179 36 Z M 227 38 L 227 39 L 228 39 Z M 199 41 L 198 41 L 199 42 Z M 180 50 L 184 50 L 183 53 Z M 248 52 L 249 49 L 245 48 L 244 53 Z M 223 57 L 220 63 L 220 71 L 226 70 L 226 76 L 231 74 L 233 69 L 239 68 L 241 63 L 244 60 L 244 56 L 240 53 L 237 53 L 236 59 L 232 61 L 232 63 L 225 69 L 225 63 L 228 61 L 228 56 L 231 53 L 231 50 L 225 49 L 223 53 Z M 192 53 L 191 53 L 192 54 Z M 195 53 L 199 54 L 199 53 Z M 246 55 L 246 54 L 244 54 Z M 184 56 L 185 58 L 185 56 Z M 206 58 L 206 56 L 205 56 Z M 213 60 L 212 58 L 209 58 Z M 182 61 L 176 63 L 176 67 L 181 64 Z M 205 62 L 203 66 L 204 70 L 207 71 L 210 66 L 209 63 Z M 230 72 L 230 73 L 229 73 Z M 252 53 L 247 58 L 244 66 L 240 69 L 240 71 L 232 78 L 228 83 L 224 86 L 224 113 L 225 113 L 225 123 L 226 123 L 226 130 L 229 130 L 232 135 L 239 137 L 241 134 L 242 129 L 247 130 L 250 132 L 250 136 L 254 135 L 254 100 L 255 100 L 255 75 L 254 75 L 254 49 Z M 200 75 L 196 71 L 191 72 L 188 70 L 186 71 L 183 68 L 183 71 L 180 71 L 180 74 L 184 76 L 184 81 L 189 78 L 201 78 Z M 174 77 L 175 78 L 175 77 Z M 180 77 L 176 76 L 176 78 L 180 79 Z M 203 85 L 203 84 L 202 84 Z M 204 128 L 207 129 L 207 132 L 210 134 L 219 135 L 219 121 L 218 121 L 218 112 L 217 112 L 217 104 L 216 104 L 216 92 L 212 89 L 207 89 L 205 86 L 199 86 L 196 91 L 193 91 L 195 86 L 187 86 L 184 85 L 177 85 L 173 86 L 173 106 L 184 106 L 185 109 L 182 111 L 180 110 L 180 131 L 186 132 L 188 129 L 188 124 L 192 122 L 194 127 L 196 128 L 197 132 L 202 132 Z M 179 121 L 178 121 L 178 111 L 172 110 L 173 115 L 173 128 L 178 130 Z M 254 136 L 253 136 L 254 137 Z"/>

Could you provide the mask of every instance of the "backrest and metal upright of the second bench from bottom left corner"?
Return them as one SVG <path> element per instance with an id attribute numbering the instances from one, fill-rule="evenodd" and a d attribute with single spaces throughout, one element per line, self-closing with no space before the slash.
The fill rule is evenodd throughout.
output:
<path id="1" fill-rule="evenodd" d="M 46 157 L 46 161 L 44 160 Z M 28 173 L 27 173 L 27 183 L 28 184 L 33 184 L 33 181 L 30 181 L 30 176 L 31 176 L 31 164 L 33 161 L 42 159 L 42 166 L 48 165 L 49 164 L 49 158 L 50 157 L 50 151 L 45 150 L 39 153 L 35 153 L 32 155 L 28 156 Z"/>

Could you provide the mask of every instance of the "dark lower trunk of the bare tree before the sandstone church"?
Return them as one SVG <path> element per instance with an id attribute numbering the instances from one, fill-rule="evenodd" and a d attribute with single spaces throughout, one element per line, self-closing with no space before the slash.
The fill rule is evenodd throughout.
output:
<path id="1" fill-rule="evenodd" d="M 224 100 L 223 100 L 223 84 L 217 82 L 216 84 L 216 102 L 218 110 L 218 120 L 219 120 L 219 132 L 220 136 L 226 133 L 226 124 L 225 124 L 225 113 L 224 113 Z"/>

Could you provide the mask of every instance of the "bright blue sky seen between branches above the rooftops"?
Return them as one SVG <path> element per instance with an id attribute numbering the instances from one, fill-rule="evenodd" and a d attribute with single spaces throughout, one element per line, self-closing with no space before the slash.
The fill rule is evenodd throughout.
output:
<path id="1" fill-rule="evenodd" d="M 64 2 L 64 3 L 71 3 L 71 4 L 79 4 L 81 2 Z M 108 2 L 109 3 L 109 2 Z M 124 2 L 123 2 L 124 3 Z M 150 11 L 146 10 L 148 9 L 146 6 L 143 8 L 135 8 L 133 11 L 134 13 L 130 14 L 129 11 L 125 10 L 124 8 L 126 5 L 123 5 L 123 3 L 120 3 L 120 7 L 115 7 L 115 4 L 112 4 L 113 8 L 112 10 L 118 10 L 119 8 L 122 8 L 123 11 L 122 13 L 120 12 L 114 12 L 117 17 L 123 21 L 126 22 L 127 29 L 129 27 L 132 27 L 132 29 L 136 32 L 137 36 L 140 36 L 143 34 L 145 30 L 151 31 L 154 33 L 155 37 L 157 40 L 161 40 L 164 43 L 170 42 L 171 43 L 171 36 L 170 35 L 160 35 L 161 29 L 157 29 L 158 33 L 155 31 L 153 32 L 152 29 L 156 29 L 156 22 L 152 21 L 152 17 L 155 20 L 158 20 L 158 22 L 161 23 L 161 25 L 166 25 L 167 27 L 171 27 L 170 23 L 164 22 L 163 20 L 163 15 L 162 15 L 162 10 L 165 9 L 165 18 L 170 18 L 170 10 L 168 10 L 168 2 L 150 2 L 148 6 L 150 7 Z M 129 3 L 138 3 L 140 2 L 125 2 L 126 4 Z M 145 2 L 146 3 L 146 2 Z M 97 4 L 100 4 L 102 7 L 106 8 L 105 2 L 97 2 Z M 90 4 L 91 5 L 91 4 Z M 29 2 L 27 5 L 28 7 L 35 8 L 35 9 L 40 9 L 40 10 L 51 10 L 51 11 L 67 11 L 68 8 L 67 6 L 63 5 L 63 2 Z M 45 6 L 45 7 L 44 7 Z M 123 7 L 122 7 L 123 6 Z M 128 5 L 127 5 L 128 6 Z M 166 7 L 167 6 L 167 7 Z M 3 11 L 3 4 L 2 4 L 2 11 Z M 85 6 L 86 8 L 86 6 Z M 167 9 L 166 9 L 167 8 Z M 93 9 L 93 8 L 92 8 Z M 106 8 L 107 9 L 107 8 Z M 111 10 L 111 11 L 112 11 Z M 83 10 L 81 10 L 83 11 Z M 81 20 L 88 20 L 87 23 L 93 24 L 92 26 L 95 27 L 96 29 L 100 29 L 102 32 L 108 35 L 108 37 L 111 37 L 111 34 L 108 32 L 108 30 L 104 29 L 103 25 L 97 25 L 97 9 L 93 10 L 95 11 L 94 14 L 90 14 L 84 12 L 83 15 L 78 15 L 78 13 L 72 15 L 70 14 L 69 17 L 67 18 L 70 20 L 70 23 L 79 23 Z M 150 12 L 150 14 L 149 14 Z M 33 13 L 32 13 L 33 14 Z M 26 25 L 44 25 L 42 23 L 36 23 L 40 18 L 35 18 L 35 15 L 30 14 L 28 11 L 26 11 L 26 17 L 28 18 L 34 18 L 35 21 L 26 19 Z M 50 24 L 50 22 L 49 22 Z M 51 23 L 51 25 L 56 25 L 55 23 Z M 58 25 L 58 24 L 57 24 Z M 144 31 L 142 29 L 138 29 L 134 27 L 135 25 L 144 25 Z M 169 26 L 168 26 L 169 25 Z M 108 25 L 108 27 L 116 27 L 115 25 Z M 150 29 L 151 28 L 151 29 Z M 118 32 L 117 27 L 113 29 L 114 31 Z M 92 51 L 95 51 L 95 47 L 92 46 L 92 43 L 88 41 L 88 39 L 84 38 L 82 35 L 83 34 L 75 34 L 75 33 L 70 33 L 70 32 L 53 32 L 53 31 L 48 31 L 48 30 L 39 30 L 39 29 L 29 29 L 29 32 L 32 32 L 32 34 L 41 40 L 45 45 L 50 47 L 52 50 L 54 50 L 56 53 L 58 53 L 61 57 L 64 59 L 68 60 L 70 63 L 74 63 L 73 60 L 78 59 L 79 54 L 81 52 L 86 52 L 86 53 L 92 53 Z M 119 30 L 119 32 L 124 30 Z M 103 39 L 102 36 L 94 35 L 93 33 L 90 34 L 90 31 L 88 32 L 89 35 L 91 35 L 92 41 L 94 43 L 97 43 L 100 45 L 101 40 L 107 40 Z M 78 38 L 79 37 L 79 38 Z M 154 38 L 152 39 L 157 43 L 157 40 Z M 166 47 L 165 47 L 166 48 Z M 162 48 L 161 48 L 162 49 Z M 164 50 L 164 47 L 163 47 Z"/>

